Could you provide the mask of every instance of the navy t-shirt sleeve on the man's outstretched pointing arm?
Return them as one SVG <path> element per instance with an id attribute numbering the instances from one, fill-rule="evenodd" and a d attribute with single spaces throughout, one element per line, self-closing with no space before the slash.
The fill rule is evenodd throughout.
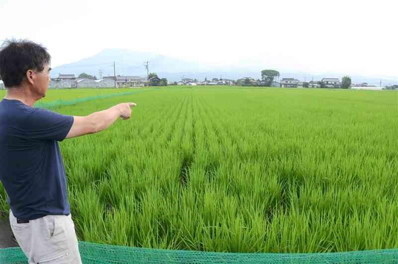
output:
<path id="1" fill-rule="evenodd" d="M 73 116 L 61 115 L 49 110 L 34 108 L 25 121 L 26 137 L 62 141 L 73 125 Z"/>

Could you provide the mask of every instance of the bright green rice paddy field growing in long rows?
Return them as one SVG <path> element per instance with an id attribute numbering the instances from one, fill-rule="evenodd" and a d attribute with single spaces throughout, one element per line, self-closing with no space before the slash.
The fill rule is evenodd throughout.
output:
<path id="1" fill-rule="evenodd" d="M 121 102 L 137 104 L 130 120 L 60 143 L 80 240 L 248 253 L 398 248 L 396 92 L 161 88 L 53 110 L 83 116 Z"/>

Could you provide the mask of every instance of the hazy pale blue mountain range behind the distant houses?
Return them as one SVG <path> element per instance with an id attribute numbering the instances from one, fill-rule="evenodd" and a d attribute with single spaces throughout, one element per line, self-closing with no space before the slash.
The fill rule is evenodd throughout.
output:
<path id="1" fill-rule="evenodd" d="M 55 67 L 51 71 L 52 77 L 58 77 L 59 74 L 75 74 L 87 73 L 95 75 L 99 78 L 99 72 L 102 71 L 102 76 L 113 76 L 113 61 L 115 62 L 116 75 L 130 75 L 130 76 L 146 76 L 147 71 L 144 66 L 144 61 L 149 61 L 149 71 L 156 72 L 160 78 L 167 78 L 169 81 L 179 81 L 184 76 L 185 78 L 192 78 L 203 80 L 212 78 L 226 78 L 237 80 L 243 77 L 253 77 L 255 79 L 261 78 L 261 70 L 265 67 L 258 66 L 243 66 L 225 65 L 214 66 L 206 65 L 193 61 L 182 60 L 170 56 L 164 56 L 153 52 L 136 52 L 128 49 L 104 49 L 100 53 L 79 60 L 74 63 L 64 64 Z M 242 61 L 239 65 L 251 65 L 250 61 Z M 255 70 L 253 70 L 253 68 Z M 319 81 L 322 78 L 341 78 L 346 74 L 335 73 L 305 73 L 305 72 L 290 72 L 282 69 L 277 69 L 281 73 L 281 78 L 295 78 L 300 81 Z M 353 83 L 367 82 L 372 85 L 379 85 L 380 78 L 366 77 L 366 76 L 351 76 Z M 397 80 L 394 77 L 382 78 L 382 84 L 396 84 Z"/>

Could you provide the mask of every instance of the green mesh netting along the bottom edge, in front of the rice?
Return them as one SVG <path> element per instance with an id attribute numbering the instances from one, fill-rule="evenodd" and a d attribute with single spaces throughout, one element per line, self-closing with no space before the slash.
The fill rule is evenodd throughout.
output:
<path id="1" fill-rule="evenodd" d="M 214 253 L 79 242 L 83 264 L 360 264 L 398 263 L 398 249 L 340 253 Z M 27 264 L 20 248 L 0 249 L 0 264 Z"/>

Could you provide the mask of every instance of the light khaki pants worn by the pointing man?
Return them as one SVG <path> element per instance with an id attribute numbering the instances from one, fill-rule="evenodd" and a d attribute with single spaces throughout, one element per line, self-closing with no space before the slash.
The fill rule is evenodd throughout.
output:
<path id="1" fill-rule="evenodd" d="M 47 215 L 18 224 L 9 212 L 16 241 L 29 264 L 81 264 L 75 225 L 69 214 Z"/>

